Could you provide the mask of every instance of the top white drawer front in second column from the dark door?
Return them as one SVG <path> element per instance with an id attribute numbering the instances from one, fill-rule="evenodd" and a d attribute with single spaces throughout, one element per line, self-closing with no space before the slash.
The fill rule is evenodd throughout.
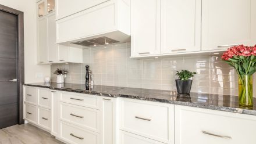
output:
<path id="1" fill-rule="evenodd" d="M 50 109 L 51 107 L 51 92 L 49 89 L 38 88 L 38 106 Z"/>

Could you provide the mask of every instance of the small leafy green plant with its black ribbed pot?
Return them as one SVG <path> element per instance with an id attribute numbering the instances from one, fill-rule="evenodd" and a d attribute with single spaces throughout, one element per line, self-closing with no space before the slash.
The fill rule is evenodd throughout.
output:
<path id="1" fill-rule="evenodd" d="M 178 80 L 175 80 L 177 92 L 182 94 L 189 94 L 192 80 L 191 78 L 194 77 L 195 72 L 191 72 L 189 70 L 182 70 L 177 71 L 176 75 L 179 77 Z"/>

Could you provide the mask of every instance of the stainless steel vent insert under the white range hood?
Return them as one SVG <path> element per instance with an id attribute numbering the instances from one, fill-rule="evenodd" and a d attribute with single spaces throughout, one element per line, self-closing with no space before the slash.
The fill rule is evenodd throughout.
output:
<path id="1" fill-rule="evenodd" d="M 72 44 L 91 47 L 91 46 L 115 44 L 118 42 L 120 42 L 120 41 L 116 41 L 115 39 L 112 39 L 112 38 L 98 37 L 98 38 L 93 38 L 93 39 L 87 39 L 84 41 L 72 42 Z"/>

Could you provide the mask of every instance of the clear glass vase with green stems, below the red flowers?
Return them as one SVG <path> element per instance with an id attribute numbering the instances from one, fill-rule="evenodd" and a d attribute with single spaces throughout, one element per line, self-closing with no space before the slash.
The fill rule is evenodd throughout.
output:
<path id="1" fill-rule="evenodd" d="M 239 75 L 239 105 L 253 107 L 253 75 Z"/>

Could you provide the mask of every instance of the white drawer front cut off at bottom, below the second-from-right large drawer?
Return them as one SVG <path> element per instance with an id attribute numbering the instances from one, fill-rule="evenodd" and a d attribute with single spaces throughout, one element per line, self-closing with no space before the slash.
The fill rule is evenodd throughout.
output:
<path id="1" fill-rule="evenodd" d="M 120 144 L 164 144 L 162 142 L 154 141 L 143 136 L 131 134 L 130 132 L 119 131 L 119 134 Z"/>

